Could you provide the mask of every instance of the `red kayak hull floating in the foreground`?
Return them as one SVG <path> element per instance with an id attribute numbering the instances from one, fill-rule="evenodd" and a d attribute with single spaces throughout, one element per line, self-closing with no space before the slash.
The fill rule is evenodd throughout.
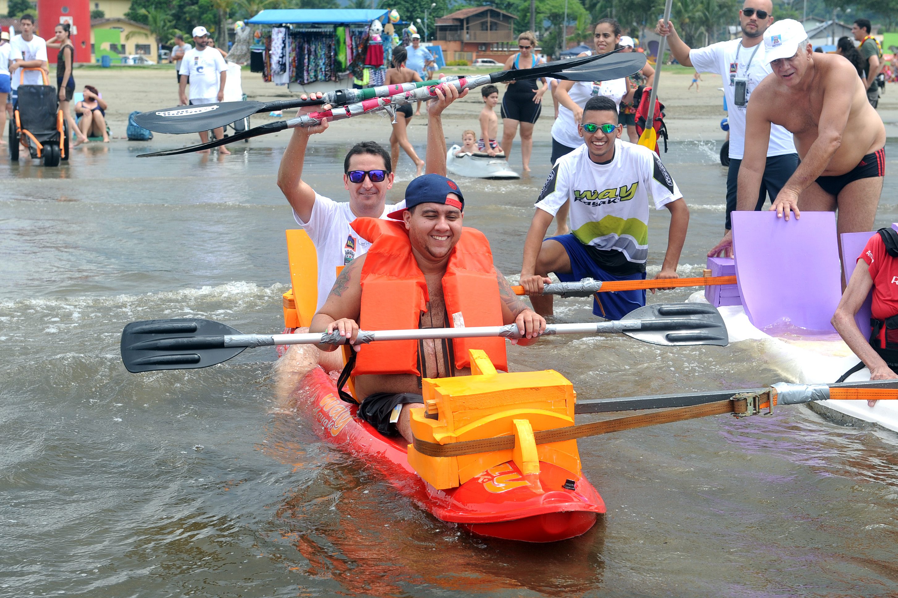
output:
<path id="1" fill-rule="evenodd" d="M 540 462 L 541 494 L 514 462 L 492 467 L 457 488 L 434 488 L 409 465 L 405 440 L 380 435 L 357 418 L 357 407 L 339 399 L 321 367 L 304 376 L 292 398 L 318 424 L 323 440 L 374 465 L 401 494 L 436 518 L 471 532 L 517 541 L 566 540 L 585 533 L 605 512 L 602 497 L 587 479 L 573 483 L 570 478 L 576 476 L 548 462 Z"/>

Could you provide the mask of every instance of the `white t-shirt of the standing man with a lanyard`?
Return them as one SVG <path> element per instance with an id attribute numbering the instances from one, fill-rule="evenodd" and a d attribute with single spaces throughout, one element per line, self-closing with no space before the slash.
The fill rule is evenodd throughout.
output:
<path id="1" fill-rule="evenodd" d="M 738 57 L 736 55 L 738 54 Z M 752 56 L 754 55 L 754 56 Z M 689 52 L 689 59 L 700 73 L 714 73 L 724 79 L 724 97 L 730 126 L 730 158 L 742 160 L 745 148 L 745 109 L 735 105 L 735 78 L 746 78 L 745 103 L 758 86 L 773 71 L 764 62 L 764 43 L 753 48 L 743 48 L 742 40 L 720 41 L 707 48 L 696 48 Z M 795 154 L 792 134 L 779 125 L 770 126 L 770 145 L 767 155 Z"/>

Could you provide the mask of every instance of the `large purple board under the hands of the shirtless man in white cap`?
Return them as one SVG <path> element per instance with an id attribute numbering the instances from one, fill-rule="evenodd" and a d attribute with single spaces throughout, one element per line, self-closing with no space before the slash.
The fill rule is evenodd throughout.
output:
<path id="1" fill-rule="evenodd" d="M 733 212 L 735 271 L 749 321 L 833 332 L 841 265 L 832 212 Z"/>

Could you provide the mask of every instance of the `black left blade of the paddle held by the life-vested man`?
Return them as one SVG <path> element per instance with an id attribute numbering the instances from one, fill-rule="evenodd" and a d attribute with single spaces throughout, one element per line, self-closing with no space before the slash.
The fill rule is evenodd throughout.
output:
<path id="1" fill-rule="evenodd" d="M 232 334 L 240 331 L 200 318 L 132 321 L 121 331 L 121 360 L 132 374 L 208 367 L 246 348 L 225 347 Z"/>

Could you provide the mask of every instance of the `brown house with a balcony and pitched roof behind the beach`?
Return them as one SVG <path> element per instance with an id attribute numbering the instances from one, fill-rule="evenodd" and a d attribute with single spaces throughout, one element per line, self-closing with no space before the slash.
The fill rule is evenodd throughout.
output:
<path id="1" fill-rule="evenodd" d="M 446 60 L 492 58 L 504 63 L 517 51 L 517 17 L 492 6 L 462 8 L 436 19 L 436 40 Z"/>

